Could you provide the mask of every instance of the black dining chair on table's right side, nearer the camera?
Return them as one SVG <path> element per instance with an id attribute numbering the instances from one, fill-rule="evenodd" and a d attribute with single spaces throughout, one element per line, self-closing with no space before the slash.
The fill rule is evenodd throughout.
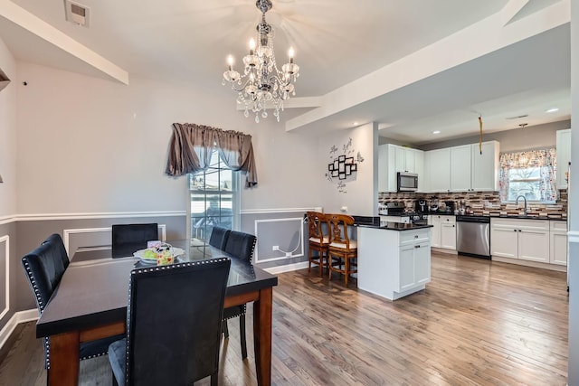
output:
<path id="1" fill-rule="evenodd" d="M 241 231 L 231 231 L 225 245 L 225 252 L 232 256 L 233 259 L 240 259 L 246 263 L 252 263 L 253 250 L 257 238 L 249 233 Z M 242 359 L 247 358 L 247 339 L 245 334 L 245 314 L 247 305 L 231 306 L 223 310 L 223 335 L 229 337 L 229 328 L 227 321 L 239 316 L 240 342 L 242 345 Z"/>

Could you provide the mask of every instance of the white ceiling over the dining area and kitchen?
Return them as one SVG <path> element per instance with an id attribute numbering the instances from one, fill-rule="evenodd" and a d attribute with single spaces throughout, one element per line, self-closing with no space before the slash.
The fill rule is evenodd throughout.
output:
<path id="1" fill-rule="evenodd" d="M 300 66 L 296 100 L 322 100 L 318 109 L 287 108 L 280 124 L 286 129 L 327 130 L 375 121 L 381 136 L 420 145 L 478 133 L 479 114 L 488 131 L 569 119 L 569 24 L 559 22 L 565 20 L 568 1 L 272 0 L 266 18 L 276 29 L 278 61 L 285 59 L 289 45 L 296 49 Z M 223 91 L 221 78 L 227 54 L 241 61 L 254 35 L 261 14 L 253 0 L 77 3 L 90 8 L 90 28 L 66 22 L 62 0 L 0 0 L 0 38 L 19 60 L 115 78 L 30 27 L 43 21 L 49 24 L 44 31 L 53 27 L 65 33 L 127 71 L 129 81 L 138 75 L 191 83 L 230 98 L 235 108 L 235 93 Z M 19 22 L 13 5 L 15 11 L 22 8 L 42 21 Z M 491 23 L 499 18 L 500 28 Z M 545 25 L 535 22 L 553 19 Z M 482 32 L 480 42 L 461 37 L 468 36 L 469 28 Z M 485 46 L 487 36 L 494 35 L 492 44 Z M 462 44 L 453 48 L 455 52 L 468 52 L 480 44 L 480 53 L 428 76 L 406 77 L 408 81 L 395 87 L 384 82 L 378 92 L 363 87 L 360 79 L 365 75 L 388 73 L 401 60 L 410 63 L 404 69 L 408 73 L 416 67 L 434 68 L 441 61 L 439 55 L 448 53 L 438 51 L 418 63 L 409 58 L 443 44 L 449 36 Z M 502 43 L 505 39 L 508 45 Z M 404 74 L 391 78 L 402 79 Z M 359 95 L 336 110 L 332 95 L 339 97 L 340 89 L 347 90 L 343 99 Z M 559 111 L 547 114 L 552 107 Z M 528 117 L 507 119 L 521 115 Z M 434 137 L 435 129 L 441 134 Z"/>

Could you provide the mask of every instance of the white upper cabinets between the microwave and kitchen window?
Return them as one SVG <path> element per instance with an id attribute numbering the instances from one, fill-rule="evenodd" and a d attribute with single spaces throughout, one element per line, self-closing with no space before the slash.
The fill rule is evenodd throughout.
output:
<path id="1" fill-rule="evenodd" d="M 497 141 L 425 152 L 427 192 L 498 191 Z"/>

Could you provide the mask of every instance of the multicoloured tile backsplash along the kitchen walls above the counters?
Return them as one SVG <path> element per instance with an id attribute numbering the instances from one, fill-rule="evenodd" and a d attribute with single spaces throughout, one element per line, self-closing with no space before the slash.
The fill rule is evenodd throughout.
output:
<path id="1" fill-rule="evenodd" d="M 567 218 L 567 191 L 559 191 L 559 199 L 555 203 L 527 203 L 527 214 L 529 216 L 540 216 L 552 219 Z M 414 210 L 416 200 L 426 200 L 429 205 L 432 200 L 438 200 L 439 206 L 445 201 L 453 201 L 456 207 L 459 202 L 465 202 L 465 206 L 470 208 L 473 214 L 484 214 L 498 216 L 500 214 L 523 214 L 523 202 L 518 202 L 518 207 L 514 202 L 502 203 L 498 192 L 454 192 L 454 193 L 388 193 L 378 194 L 378 202 L 402 201 L 408 211 Z"/>

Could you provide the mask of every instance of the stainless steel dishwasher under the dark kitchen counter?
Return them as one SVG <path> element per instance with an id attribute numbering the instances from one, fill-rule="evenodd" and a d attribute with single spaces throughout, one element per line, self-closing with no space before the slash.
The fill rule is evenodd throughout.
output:
<path id="1" fill-rule="evenodd" d="M 490 259 L 490 218 L 456 216 L 456 249 L 460 255 Z"/>

